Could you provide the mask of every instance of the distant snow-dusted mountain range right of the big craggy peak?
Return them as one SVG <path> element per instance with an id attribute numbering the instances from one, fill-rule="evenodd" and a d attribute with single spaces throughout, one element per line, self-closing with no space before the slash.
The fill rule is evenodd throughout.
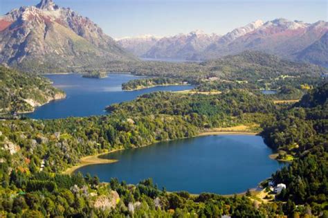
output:
<path id="1" fill-rule="evenodd" d="M 151 44 L 139 39 L 137 45 L 148 48 L 147 51 L 136 49 L 133 37 L 124 39 L 124 42 L 118 39 L 118 43 L 135 55 L 148 58 L 209 60 L 248 50 L 263 51 L 295 61 L 328 64 L 328 56 L 325 55 L 327 31 L 328 23 L 325 21 L 307 24 L 302 21 L 274 19 L 266 22 L 254 21 L 223 36 L 197 31 L 156 38 Z"/>

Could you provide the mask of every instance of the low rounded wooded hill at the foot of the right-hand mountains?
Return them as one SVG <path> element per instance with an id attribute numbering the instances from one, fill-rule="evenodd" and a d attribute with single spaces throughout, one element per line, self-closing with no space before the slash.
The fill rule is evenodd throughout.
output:
<path id="1" fill-rule="evenodd" d="M 130 64 L 136 75 L 154 75 L 187 80 L 217 78 L 220 80 L 274 80 L 278 77 L 319 78 L 327 69 L 284 60 L 277 55 L 244 51 L 201 63 L 140 62 Z"/>

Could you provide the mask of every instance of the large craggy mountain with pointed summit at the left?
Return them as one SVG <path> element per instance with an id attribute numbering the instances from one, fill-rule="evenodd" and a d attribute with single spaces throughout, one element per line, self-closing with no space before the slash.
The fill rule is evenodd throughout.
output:
<path id="1" fill-rule="evenodd" d="M 0 63 L 28 71 L 73 71 L 135 60 L 87 17 L 53 0 L 0 17 Z"/>

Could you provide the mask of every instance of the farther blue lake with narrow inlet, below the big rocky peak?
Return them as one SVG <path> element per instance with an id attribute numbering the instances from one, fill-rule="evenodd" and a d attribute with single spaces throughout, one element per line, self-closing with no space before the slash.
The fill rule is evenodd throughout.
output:
<path id="1" fill-rule="evenodd" d="M 182 91 L 193 86 L 152 87 L 138 91 L 122 91 L 121 84 L 143 77 L 129 73 L 109 73 L 107 78 L 82 78 L 81 74 L 45 75 L 53 85 L 66 93 L 66 99 L 56 100 L 35 109 L 26 116 L 34 119 L 66 118 L 69 116 L 92 116 L 106 113 L 104 107 L 113 103 L 134 100 L 152 91 Z"/>

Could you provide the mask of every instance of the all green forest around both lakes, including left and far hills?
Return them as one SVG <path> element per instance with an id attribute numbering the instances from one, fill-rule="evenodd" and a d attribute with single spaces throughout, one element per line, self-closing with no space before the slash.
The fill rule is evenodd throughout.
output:
<path id="1" fill-rule="evenodd" d="M 328 216 L 328 84 L 320 78 L 327 70 L 259 52 L 200 64 L 115 62 L 98 71 L 103 69 L 156 76 L 122 84 L 126 90 L 188 82 L 196 85 L 196 91 L 221 93 L 148 93 L 109 105 L 107 116 L 1 120 L 1 217 Z M 6 113 L 33 109 L 26 99 L 44 104 L 63 95 L 44 78 L 0 70 Z M 264 95 L 261 89 L 277 93 Z M 300 98 L 295 105 L 274 103 Z M 146 178 L 127 185 L 117 179 L 100 183 L 89 174 L 61 173 L 83 156 L 238 125 L 260 132 L 279 159 L 291 158 L 290 165 L 272 176 L 275 184 L 286 184 L 273 201 L 259 203 L 249 193 L 233 197 L 172 193 Z"/>

